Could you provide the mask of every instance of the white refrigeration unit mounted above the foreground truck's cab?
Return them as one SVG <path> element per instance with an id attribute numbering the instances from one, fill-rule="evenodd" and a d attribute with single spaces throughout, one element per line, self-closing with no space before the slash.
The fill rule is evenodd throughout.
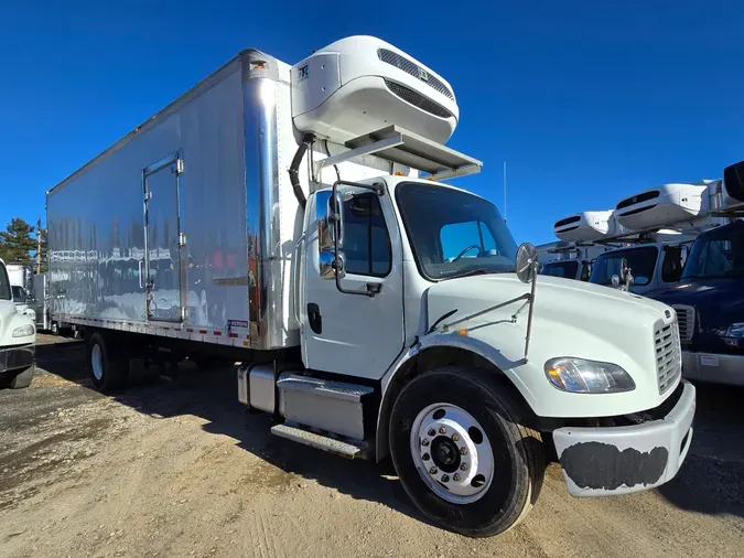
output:
<path id="1" fill-rule="evenodd" d="M 391 44 L 351 36 L 292 66 L 292 118 L 343 143 L 395 124 L 445 143 L 460 117 L 452 87 Z"/>

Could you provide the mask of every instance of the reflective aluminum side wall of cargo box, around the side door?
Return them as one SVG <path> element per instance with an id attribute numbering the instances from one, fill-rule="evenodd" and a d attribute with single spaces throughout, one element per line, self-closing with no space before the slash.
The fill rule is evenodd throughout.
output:
<path id="1" fill-rule="evenodd" d="M 157 115 L 159 121 L 50 192 L 55 316 L 145 322 L 139 272 L 144 258 L 142 170 L 181 151 L 181 230 L 186 244 L 174 265 L 182 266 L 186 289 L 183 326 L 226 330 L 228 320 L 248 320 L 239 68 L 236 60 L 200 95 Z"/>

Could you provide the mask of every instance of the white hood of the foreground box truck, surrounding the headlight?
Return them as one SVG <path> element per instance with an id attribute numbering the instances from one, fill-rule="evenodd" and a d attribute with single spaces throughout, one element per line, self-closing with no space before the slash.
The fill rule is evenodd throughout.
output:
<path id="1" fill-rule="evenodd" d="M 452 310 L 455 314 L 438 328 L 468 314 L 529 292 L 530 286 L 514 273 L 451 279 L 432 286 L 428 292 L 431 325 Z M 463 337 L 493 348 L 494 361 L 517 385 L 541 416 L 624 415 L 658 406 L 679 382 L 659 395 L 656 369 L 655 332 L 676 320 L 675 312 L 660 302 L 634 293 L 570 279 L 538 276 L 528 361 L 525 356 L 528 305 L 525 300 L 487 312 L 456 325 L 466 329 Z M 520 310 L 521 309 L 521 310 Z M 513 320 L 518 312 L 516 320 Z M 451 335 L 457 336 L 451 332 Z M 625 394 L 567 394 L 544 377 L 549 358 L 570 356 L 608 362 L 622 366 L 633 377 L 636 389 Z M 572 401 L 567 401 L 572 399 Z"/>

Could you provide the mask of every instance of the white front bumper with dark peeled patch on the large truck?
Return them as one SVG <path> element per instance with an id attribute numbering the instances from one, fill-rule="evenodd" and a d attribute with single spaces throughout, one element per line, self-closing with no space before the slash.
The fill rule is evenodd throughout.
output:
<path id="1" fill-rule="evenodd" d="M 640 425 L 559 428 L 553 442 L 573 496 L 640 492 L 670 481 L 692 441 L 696 390 L 688 382 L 669 414 Z"/>

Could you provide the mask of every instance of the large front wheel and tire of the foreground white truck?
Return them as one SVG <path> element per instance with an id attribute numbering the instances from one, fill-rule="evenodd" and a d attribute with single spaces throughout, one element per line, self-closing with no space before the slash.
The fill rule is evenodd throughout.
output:
<path id="1" fill-rule="evenodd" d="M 527 426 L 524 404 L 488 374 L 444 367 L 413 378 L 389 425 L 392 461 L 416 506 L 470 537 L 499 535 L 521 522 L 546 468 L 542 440 Z"/>

